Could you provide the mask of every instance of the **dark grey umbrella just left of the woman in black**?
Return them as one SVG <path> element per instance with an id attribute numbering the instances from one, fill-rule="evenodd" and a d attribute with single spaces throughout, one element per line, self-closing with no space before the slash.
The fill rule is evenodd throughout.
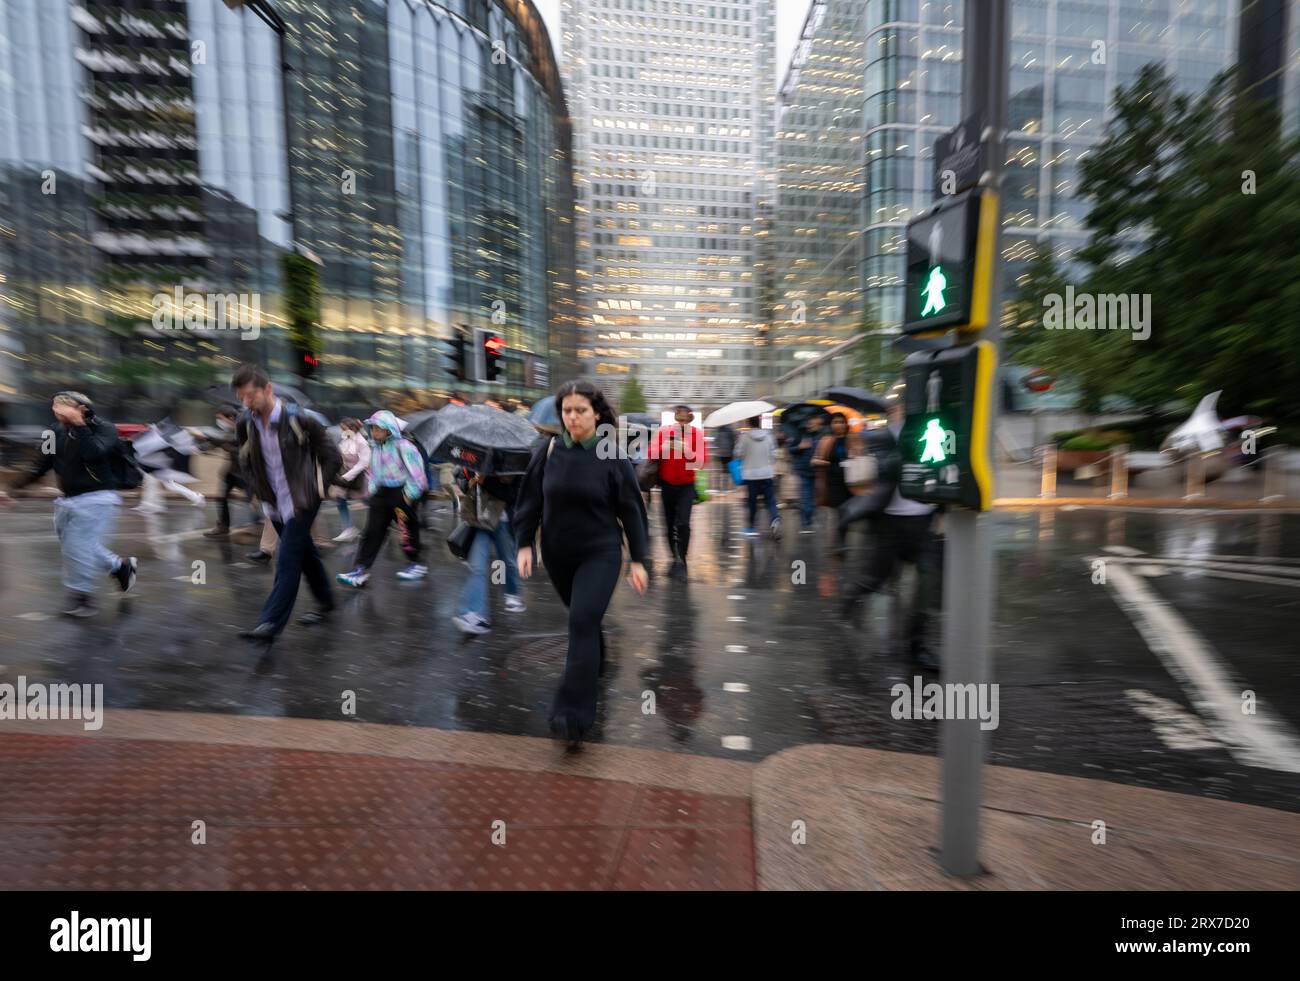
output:
<path id="1" fill-rule="evenodd" d="M 526 470 L 537 440 L 528 420 L 488 405 L 445 405 L 411 422 L 404 435 L 430 460 L 464 464 L 485 476 Z"/>

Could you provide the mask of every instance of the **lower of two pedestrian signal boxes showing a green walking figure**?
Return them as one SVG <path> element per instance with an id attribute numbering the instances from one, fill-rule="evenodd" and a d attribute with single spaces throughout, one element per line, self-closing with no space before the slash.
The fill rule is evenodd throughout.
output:
<path id="1" fill-rule="evenodd" d="M 902 496 L 988 511 L 993 499 L 988 420 L 996 376 L 997 348 L 987 340 L 922 351 L 904 361 Z"/>

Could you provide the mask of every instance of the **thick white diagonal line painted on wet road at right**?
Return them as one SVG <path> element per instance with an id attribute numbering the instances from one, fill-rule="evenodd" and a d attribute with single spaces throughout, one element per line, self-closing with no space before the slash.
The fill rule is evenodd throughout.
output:
<path id="1" fill-rule="evenodd" d="M 1262 702 L 1256 702 L 1253 716 L 1242 712 L 1247 686 L 1231 678 L 1214 648 L 1123 564 L 1115 563 L 1108 572 L 1106 589 L 1114 591 L 1119 608 L 1232 756 L 1249 767 L 1300 773 L 1300 741 L 1286 722 Z"/>

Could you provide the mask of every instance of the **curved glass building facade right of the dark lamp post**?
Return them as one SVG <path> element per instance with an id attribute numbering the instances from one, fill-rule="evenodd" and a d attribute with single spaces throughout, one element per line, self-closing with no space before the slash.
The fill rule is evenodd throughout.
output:
<path id="1" fill-rule="evenodd" d="M 278 9 L 294 233 L 324 262 L 324 381 L 472 389 L 445 374 L 439 342 L 482 326 L 507 344 L 497 390 L 537 394 L 550 338 L 572 331 L 573 282 L 566 110 L 537 12 L 482 0 Z"/>

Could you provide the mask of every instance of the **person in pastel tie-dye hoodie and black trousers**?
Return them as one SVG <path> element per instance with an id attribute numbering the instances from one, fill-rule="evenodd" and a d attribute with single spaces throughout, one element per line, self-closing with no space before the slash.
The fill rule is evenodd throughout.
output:
<path id="1" fill-rule="evenodd" d="M 346 586 L 364 586 L 370 578 L 370 567 L 384 547 L 389 525 L 398 525 L 398 541 L 406 554 L 407 568 L 398 572 L 399 580 L 422 580 L 429 574 L 420 563 L 420 499 L 429 487 L 424 459 L 415 443 L 402 437 L 402 424 L 387 409 L 376 412 L 365 425 L 370 427 L 369 494 L 370 512 L 365 520 L 365 533 L 356 554 L 356 568 L 341 572 L 338 581 Z"/>

